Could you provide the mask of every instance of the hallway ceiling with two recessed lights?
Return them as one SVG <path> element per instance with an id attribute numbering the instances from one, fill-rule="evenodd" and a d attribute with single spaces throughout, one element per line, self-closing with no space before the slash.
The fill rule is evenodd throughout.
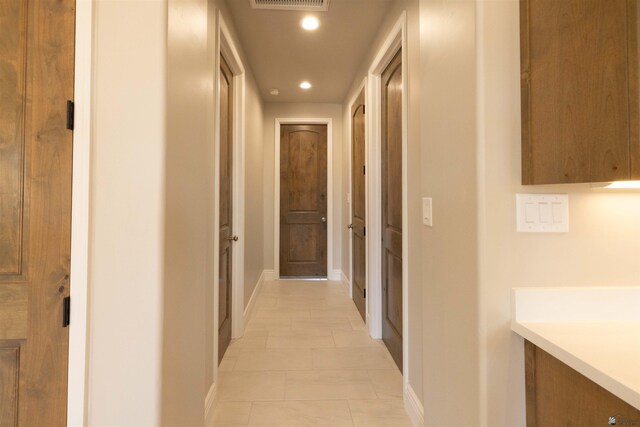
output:
<path id="1" fill-rule="evenodd" d="M 394 0 L 331 0 L 328 12 L 252 9 L 226 0 L 265 102 L 341 103 Z M 305 31 L 307 15 L 320 28 Z M 308 80 L 313 85 L 298 87 Z M 279 96 L 269 94 L 277 88 Z"/>

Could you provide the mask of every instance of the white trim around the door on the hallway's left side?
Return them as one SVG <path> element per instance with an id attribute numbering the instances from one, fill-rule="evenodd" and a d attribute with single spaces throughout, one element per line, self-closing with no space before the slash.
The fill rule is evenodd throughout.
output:
<path id="1" fill-rule="evenodd" d="M 216 17 L 216 48 L 214 51 L 215 96 L 214 96 L 214 212 L 220 210 L 220 55 L 224 55 L 227 65 L 233 73 L 233 234 L 239 240 L 233 245 L 232 277 L 231 277 L 231 338 L 239 338 L 244 333 L 244 169 L 245 169 L 245 69 L 238 54 L 238 49 L 231 36 L 222 12 L 218 10 Z M 213 224 L 213 381 L 218 380 L 218 297 L 220 271 L 220 218 L 214 215 Z"/>

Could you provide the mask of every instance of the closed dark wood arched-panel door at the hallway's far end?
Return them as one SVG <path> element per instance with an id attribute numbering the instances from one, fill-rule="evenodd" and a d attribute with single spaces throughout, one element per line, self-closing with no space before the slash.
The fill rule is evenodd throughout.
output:
<path id="1" fill-rule="evenodd" d="M 280 127 L 280 276 L 327 276 L 327 126 Z"/>

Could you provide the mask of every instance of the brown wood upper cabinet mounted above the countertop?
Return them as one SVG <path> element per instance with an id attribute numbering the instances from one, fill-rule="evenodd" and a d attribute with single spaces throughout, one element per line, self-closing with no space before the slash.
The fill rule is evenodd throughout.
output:
<path id="1" fill-rule="evenodd" d="M 520 0 L 522 183 L 640 179 L 637 0 Z"/>

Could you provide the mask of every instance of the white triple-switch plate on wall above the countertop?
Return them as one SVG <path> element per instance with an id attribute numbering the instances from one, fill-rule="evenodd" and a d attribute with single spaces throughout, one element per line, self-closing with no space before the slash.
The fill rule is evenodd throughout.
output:
<path id="1" fill-rule="evenodd" d="M 569 231 L 567 194 L 516 194 L 517 230 L 520 233 Z"/>

